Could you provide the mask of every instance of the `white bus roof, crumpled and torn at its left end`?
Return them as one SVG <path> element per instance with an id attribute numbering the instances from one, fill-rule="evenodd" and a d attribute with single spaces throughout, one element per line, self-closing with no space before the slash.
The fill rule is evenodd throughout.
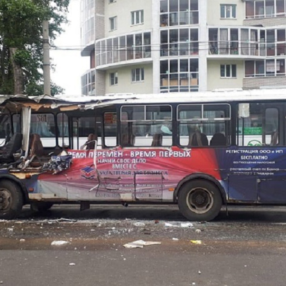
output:
<path id="1" fill-rule="evenodd" d="M 192 104 L 192 103 L 220 103 L 220 102 L 243 102 L 264 100 L 286 100 L 286 88 L 257 89 L 257 90 L 221 90 L 214 92 L 192 93 L 160 93 L 160 94 L 108 94 L 106 96 L 25 96 L 25 95 L 0 95 L 0 104 L 5 102 L 19 102 L 24 105 L 35 103 L 49 103 L 49 108 L 61 106 L 78 106 L 78 109 L 94 109 L 100 106 L 113 104 Z M 38 108 L 37 107 L 37 108 Z M 46 106 L 47 107 L 47 106 Z M 32 107 L 33 108 L 33 107 Z M 68 110 L 65 109 L 65 110 Z"/>

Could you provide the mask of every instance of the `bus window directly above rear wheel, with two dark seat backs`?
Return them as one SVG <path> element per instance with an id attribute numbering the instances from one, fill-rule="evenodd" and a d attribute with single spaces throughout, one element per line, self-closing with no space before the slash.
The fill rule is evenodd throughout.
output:
<path id="1" fill-rule="evenodd" d="M 181 146 L 227 146 L 230 144 L 229 104 L 178 106 Z"/>

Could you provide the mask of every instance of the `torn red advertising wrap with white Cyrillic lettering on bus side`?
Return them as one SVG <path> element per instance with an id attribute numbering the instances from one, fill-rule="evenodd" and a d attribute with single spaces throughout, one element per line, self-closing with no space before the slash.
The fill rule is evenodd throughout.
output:
<path id="1" fill-rule="evenodd" d="M 220 180 L 213 149 L 68 150 L 72 164 L 58 174 L 41 174 L 39 192 L 69 200 L 173 200 L 186 176 L 204 173 Z M 57 191 L 55 191 L 57 190 Z"/>

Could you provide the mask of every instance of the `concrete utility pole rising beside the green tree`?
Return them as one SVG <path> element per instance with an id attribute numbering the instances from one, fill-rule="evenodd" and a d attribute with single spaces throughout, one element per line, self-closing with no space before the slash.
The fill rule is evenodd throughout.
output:
<path id="1" fill-rule="evenodd" d="M 43 21 L 43 77 L 44 94 L 51 95 L 49 21 Z"/>

